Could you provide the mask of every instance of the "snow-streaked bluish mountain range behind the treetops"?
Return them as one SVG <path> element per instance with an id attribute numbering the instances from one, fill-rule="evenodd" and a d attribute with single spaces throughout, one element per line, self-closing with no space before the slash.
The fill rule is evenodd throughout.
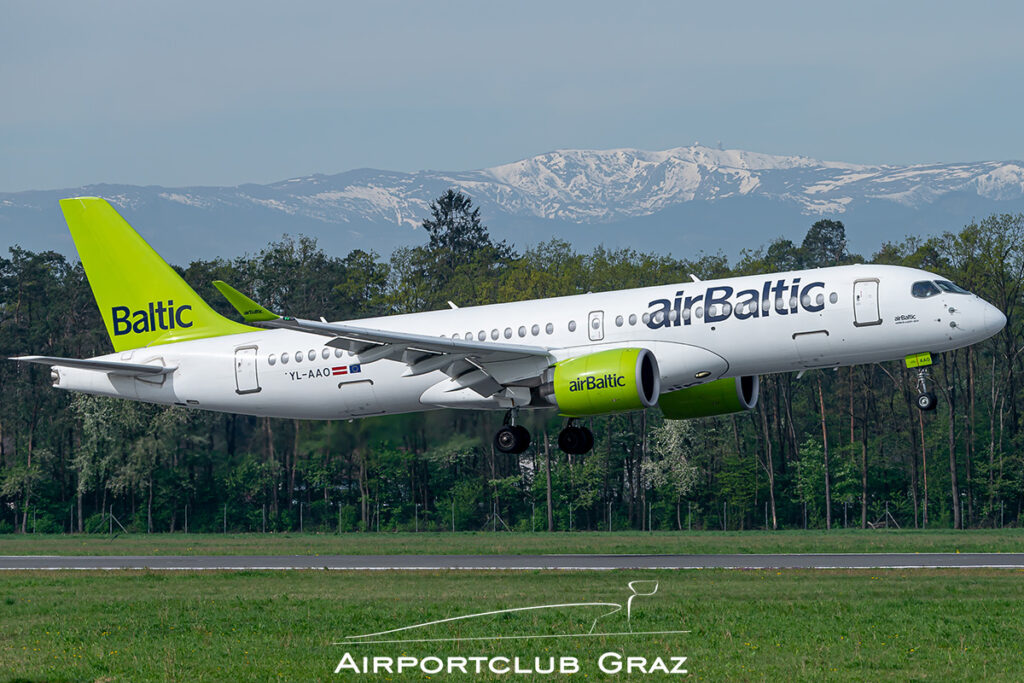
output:
<path id="1" fill-rule="evenodd" d="M 449 187 L 471 195 L 492 231 L 522 247 L 559 237 L 644 250 L 735 254 L 820 217 L 847 225 L 855 250 L 1024 209 L 1024 163 L 865 166 L 694 144 L 664 152 L 562 150 L 476 171 L 358 169 L 266 185 L 89 185 L 0 194 L 0 245 L 73 253 L 56 200 L 105 197 L 171 260 L 237 255 L 283 233 L 331 251 L 388 252 Z"/>

